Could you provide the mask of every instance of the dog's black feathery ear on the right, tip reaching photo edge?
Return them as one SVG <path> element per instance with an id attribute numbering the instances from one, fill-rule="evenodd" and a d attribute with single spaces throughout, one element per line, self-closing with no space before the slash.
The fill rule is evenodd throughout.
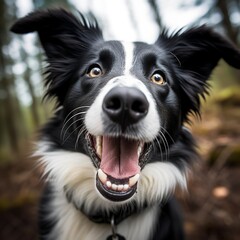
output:
<path id="1" fill-rule="evenodd" d="M 240 69 L 240 51 L 234 44 L 206 26 L 191 28 L 168 36 L 165 31 L 156 44 L 175 61 L 178 79 L 186 96 L 185 113 L 198 113 L 200 95 L 208 90 L 208 80 L 220 59 Z"/>

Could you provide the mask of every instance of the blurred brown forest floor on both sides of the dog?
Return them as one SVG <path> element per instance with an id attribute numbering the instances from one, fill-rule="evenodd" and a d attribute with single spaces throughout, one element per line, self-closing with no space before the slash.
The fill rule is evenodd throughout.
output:
<path id="1" fill-rule="evenodd" d="M 176 194 L 187 240 L 239 239 L 240 111 L 235 110 L 206 110 L 192 126 L 202 159 L 190 174 L 188 192 Z M 27 157 L 0 167 L 1 240 L 37 240 L 39 179 Z"/>

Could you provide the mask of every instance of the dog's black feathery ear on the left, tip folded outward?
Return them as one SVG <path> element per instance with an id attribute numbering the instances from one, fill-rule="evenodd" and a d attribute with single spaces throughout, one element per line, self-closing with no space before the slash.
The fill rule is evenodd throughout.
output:
<path id="1" fill-rule="evenodd" d="M 63 101 L 74 68 L 80 66 L 91 43 L 102 40 L 95 19 L 77 18 L 63 9 L 40 10 L 19 19 L 11 28 L 18 34 L 37 32 L 47 56 L 48 96 Z M 68 82 L 68 84 L 66 83 Z"/>

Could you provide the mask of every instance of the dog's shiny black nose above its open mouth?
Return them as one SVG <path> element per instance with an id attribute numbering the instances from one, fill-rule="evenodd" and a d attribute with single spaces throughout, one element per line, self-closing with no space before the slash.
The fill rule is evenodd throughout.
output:
<path id="1" fill-rule="evenodd" d="M 119 123 L 123 130 L 137 123 L 148 113 L 149 103 L 146 96 L 133 87 L 115 87 L 103 100 L 103 111 Z"/>

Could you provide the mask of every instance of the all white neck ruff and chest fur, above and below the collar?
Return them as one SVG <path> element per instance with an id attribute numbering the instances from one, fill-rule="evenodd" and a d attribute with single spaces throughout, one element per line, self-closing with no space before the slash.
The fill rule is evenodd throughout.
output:
<path id="1" fill-rule="evenodd" d="M 110 234 L 108 224 L 95 224 L 89 221 L 73 204 L 69 204 L 64 196 L 64 187 L 72 192 L 72 201 L 81 205 L 85 203 L 86 211 L 114 209 L 114 203 L 100 196 L 95 188 L 96 169 L 90 158 L 82 153 L 69 151 L 48 152 L 49 142 L 39 144 L 36 155 L 42 156 L 41 163 L 45 166 L 45 174 L 55 187 L 52 202 L 52 219 L 58 219 L 53 231 L 54 239 L 58 240 L 105 240 Z M 150 163 L 145 166 L 138 183 L 138 192 L 129 202 L 136 201 L 140 206 L 153 203 L 169 195 L 177 184 L 186 186 L 185 174 L 171 163 Z M 158 206 L 156 206 L 158 207 Z M 156 207 L 146 209 L 139 215 L 133 215 L 118 225 L 118 231 L 129 240 L 146 240 L 151 235 L 156 214 Z M 60 233 L 60 236 L 56 236 Z"/>

